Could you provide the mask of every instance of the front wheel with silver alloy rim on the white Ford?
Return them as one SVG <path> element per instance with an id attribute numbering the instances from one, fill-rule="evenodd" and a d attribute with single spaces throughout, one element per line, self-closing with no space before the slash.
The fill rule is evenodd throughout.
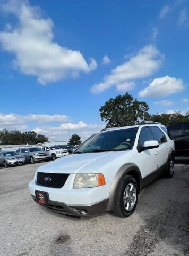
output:
<path id="1" fill-rule="evenodd" d="M 130 216 L 136 208 L 138 194 L 139 189 L 136 180 L 133 176 L 126 175 L 119 182 L 113 213 L 119 217 Z"/>

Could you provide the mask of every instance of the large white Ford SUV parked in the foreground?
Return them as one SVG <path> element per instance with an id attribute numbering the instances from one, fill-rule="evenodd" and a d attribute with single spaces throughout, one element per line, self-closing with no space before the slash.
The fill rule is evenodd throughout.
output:
<path id="1" fill-rule="evenodd" d="M 72 155 L 39 167 L 29 190 L 58 213 L 128 217 L 140 191 L 162 173 L 173 177 L 174 141 L 164 125 L 145 122 L 92 135 Z"/>

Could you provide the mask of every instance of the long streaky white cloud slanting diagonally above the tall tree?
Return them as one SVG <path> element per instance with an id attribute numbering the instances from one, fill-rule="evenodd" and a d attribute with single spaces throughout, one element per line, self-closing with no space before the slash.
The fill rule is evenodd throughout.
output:
<path id="1" fill-rule="evenodd" d="M 119 87 L 128 80 L 148 77 L 160 68 L 162 59 L 155 46 L 145 46 L 130 60 L 111 70 L 111 74 L 106 75 L 103 82 L 93 85 L 91 92 L 100 93 L 111 86 Z"/>

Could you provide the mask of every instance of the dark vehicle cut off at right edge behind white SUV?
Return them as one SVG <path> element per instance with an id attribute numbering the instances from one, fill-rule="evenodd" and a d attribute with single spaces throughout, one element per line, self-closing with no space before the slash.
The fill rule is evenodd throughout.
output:
<path id="1" fill-rule="evenodd" d="M 168 134 L 175 142 L 175 156 L 189 157 L 189 120 L 169 126 Z"/>

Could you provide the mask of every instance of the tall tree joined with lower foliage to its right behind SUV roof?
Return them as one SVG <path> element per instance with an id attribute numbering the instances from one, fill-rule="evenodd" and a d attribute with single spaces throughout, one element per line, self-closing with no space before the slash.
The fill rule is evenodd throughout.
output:
<path id="1" fill-rule="evenodd" d="M 118 95 L 114 99 L 109 99 L 99 109 L 100 117 L 102 121 L 107 123 L 107 127 L 134 125 L 143 120 L 160 122 L 168 127 L 172 124 L 189 120 L 189 110 L 186 112 L 186 115 L 179 111 L 173 114 L 150 115 L 148 110 L 149 107 L 146 102 L 134 100 L 132 95 L 128 93 L 125 93 L 123 96 Z"/>

